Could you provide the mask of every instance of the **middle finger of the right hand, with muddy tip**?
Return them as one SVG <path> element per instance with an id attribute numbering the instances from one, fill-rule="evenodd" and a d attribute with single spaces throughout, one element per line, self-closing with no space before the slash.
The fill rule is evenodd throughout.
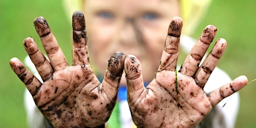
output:
<path id="1" fill-rule="evenodd" d="M 193 45 L 191 51 L 186 56 L 183 64 L 181 65 L 179 72 L 187 76 L 193 76 L 197 70 L 199 63 L 207 51 L 209 44 L 212 42 L 217 28 L 213 25 L 207 25 L 201 33 L 201 36 L 197 39 Z"/>

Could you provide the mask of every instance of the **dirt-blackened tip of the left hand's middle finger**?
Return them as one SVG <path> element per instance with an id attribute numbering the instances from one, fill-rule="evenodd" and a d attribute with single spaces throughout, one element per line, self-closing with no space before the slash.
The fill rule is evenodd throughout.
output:
<path id="1" fill-rule="evenodd" d="M 46 36 L 50 33 L 49 25 L 42 16 L 36 17 L 34 19 L 34 27 L 40 37 Z"/>

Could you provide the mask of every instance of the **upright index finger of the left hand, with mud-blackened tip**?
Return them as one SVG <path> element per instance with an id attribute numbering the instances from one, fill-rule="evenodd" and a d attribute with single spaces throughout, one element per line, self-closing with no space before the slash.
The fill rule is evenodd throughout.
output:
<path id="1" fill-rule="evenodd" d="M 73 65 L 89 64 L 89 55 L 86 45 L 85 20 L 81 11 L 75 11 L 72 17 L 73 39 L 72 57 Z"/>

